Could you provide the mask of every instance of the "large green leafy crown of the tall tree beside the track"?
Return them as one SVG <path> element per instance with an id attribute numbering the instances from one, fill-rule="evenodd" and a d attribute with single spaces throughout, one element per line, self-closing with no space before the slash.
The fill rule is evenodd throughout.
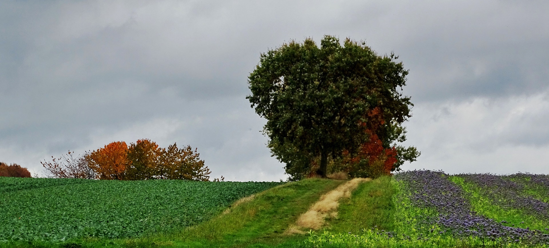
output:
<path id="1" fill-rule="evenodd" d="M 320 47 L 308 38 L 261 54 L 246 98 L 267 119 L 268 147 L 287 172 L 320 157 L 316 172 L 325 177 L 329 157 L 356 153 L 372 132 L 387 148 L 405 140 L 400 124 L 413 105 L 401 93 L 408 71 L 396 59 L 333 36 L 324 36 Z M 399 149 L 397 165 L 418 155 L 413 147 Z"/>

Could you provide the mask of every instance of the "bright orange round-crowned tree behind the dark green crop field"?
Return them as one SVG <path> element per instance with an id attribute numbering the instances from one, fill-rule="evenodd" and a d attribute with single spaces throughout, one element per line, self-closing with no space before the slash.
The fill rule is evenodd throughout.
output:
<path id="1" fill-rule="evenodd" d="M 128 160 L 128 146 L 124 141 L 111 142 L 103 148 L 89 153 L 85 157 L 99 179 L 124 180 Z"/>

